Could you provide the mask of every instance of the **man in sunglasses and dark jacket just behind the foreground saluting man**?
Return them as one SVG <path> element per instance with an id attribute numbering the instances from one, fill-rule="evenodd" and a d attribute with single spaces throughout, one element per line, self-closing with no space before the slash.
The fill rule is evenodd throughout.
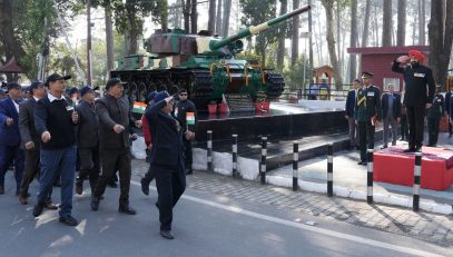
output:
<path id="1" fill-rule="evenodd" d="M 183 129 L 184 157 L 186 165 L 186 174 L 193 174 L 193 147 L 191 142 L 195 139 L 195 126 L 197 120 L 197 109 L 193 101 L 187 99 L 187 90 L 179 91 L 179 100 L 175 105 L 175 117 L 179 121 Z"/>

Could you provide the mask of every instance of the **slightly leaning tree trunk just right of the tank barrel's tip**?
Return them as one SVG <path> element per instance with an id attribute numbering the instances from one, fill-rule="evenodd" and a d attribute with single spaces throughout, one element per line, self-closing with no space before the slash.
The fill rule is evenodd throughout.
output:
<path id="1" fill-rule="evenodd" d="M 338 59 L 336 58 L 336 51 L 335 51 L 335 38 L 334 38 L 334 30 L 333 30 L 333 9 L 334 9 L 334 1 L 335 0 L 322 0 L 322 3 L 324 6 L 324 9 L 326 11 L 326 27 L 327 27 L 327 48 L 328 48 L 328 55 L 331 57 L 331 62 L 332 67 L 334 68 L 334 77 L 335 77 L 335 87 L 337 90 L 341 90 L 343 87 L 343 79 L 342 75 L 338 72 L 339 67 L 338 67 Z"/>

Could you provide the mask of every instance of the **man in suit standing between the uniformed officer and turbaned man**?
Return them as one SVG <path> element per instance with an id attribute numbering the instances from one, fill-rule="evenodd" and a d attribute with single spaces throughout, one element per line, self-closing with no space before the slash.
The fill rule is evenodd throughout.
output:
<path id="1" fill-rule="evenodd" d="M 394 92 L 395 86 L 388 85 L 388 92 L 382 95 L 382 110 L 384 119 L 384 146 L 387 148 L 388 126 L 392 126 L 392 146 L 396 146 L 396 136 L 398 134 L 398 123 L 401 115 L 401 97 Z"/>

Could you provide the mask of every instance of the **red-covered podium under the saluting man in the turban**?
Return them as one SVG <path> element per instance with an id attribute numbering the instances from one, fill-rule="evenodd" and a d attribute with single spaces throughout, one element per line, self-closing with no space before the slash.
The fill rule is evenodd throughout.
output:
<path id="1" fill-rule="evenodd" d="M 374 152 L 374 180 L 412 187 L 414 184 L 415 154 L 400 147 Z M 446 190 L 453 184 L 453 151 L 444 148 L 422 148 L 421 187 Z"/>

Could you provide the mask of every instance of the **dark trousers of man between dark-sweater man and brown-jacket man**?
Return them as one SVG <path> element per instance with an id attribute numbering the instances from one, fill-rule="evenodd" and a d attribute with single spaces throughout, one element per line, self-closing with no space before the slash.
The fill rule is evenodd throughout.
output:
<path id="1" fill-rule="evenodd" d="M 80 170 L 79 176 L 77 176 L 77 184 L 81 186 L 88 177 L 92 194 L 100 172 L 99 147 L 79 148 L 78 152 Z"/>

